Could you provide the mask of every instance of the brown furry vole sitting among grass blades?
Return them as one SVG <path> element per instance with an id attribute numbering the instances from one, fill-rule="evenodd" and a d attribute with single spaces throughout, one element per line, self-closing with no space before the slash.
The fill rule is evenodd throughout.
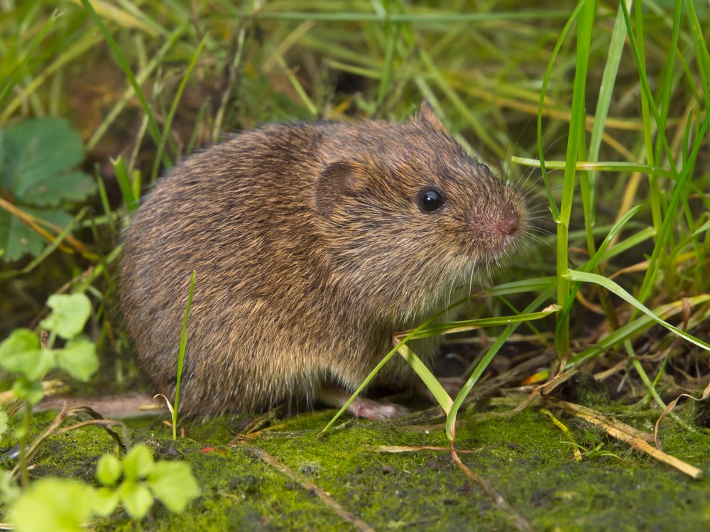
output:
<path id="1" fill-rule="evenodd" d="M 197 271 L 186 413 L 342 404 L 394 332 L 442 310 L 515 246 L 525 222 L 515 188 L 467 156 L 426 102 L 406 124 L 268 125 L 158 182 L 126 234 L 121 308 L 142 367 L 172 392 Z M 439 342 L 411 347 L 430 361 Z M 395 357 L 378 379 L 412 376 Z M 351 411 L 400 413 L 377 405 Z"/>

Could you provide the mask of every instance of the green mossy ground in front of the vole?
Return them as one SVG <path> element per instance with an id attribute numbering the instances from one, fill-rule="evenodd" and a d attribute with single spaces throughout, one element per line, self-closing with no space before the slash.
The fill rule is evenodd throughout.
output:
<path id="1" fill-rule="evenodd" d="M 495 410 L 491 410 L 493 412 Z M 498 407 L 497 411 L 503 412 Z M 553 409 L 554 411 L 554 409 Z M 283 420 L 272 435 L 263 431 L 248 445 L 261 447 L 301 477 L 316 484 L 347 511 L 376 530 L 508 531 L 510 516 L 468 479 L 448 452 L 378 452 L 378 445 L 447 446 L 441 428 L 410 430 L 349 423 L 317 440 L 333 411 Z M 457 448 L 477 450 L 461 460 L 528 519 L 537 531 L 679 531 L 710 526 L 710 480 L 694 481 L 675 469 L 581 421 L 555 415 L 581 445 L 589 435 L 617 457 L 572 460 L 572 446 L 537 408 L 484 420 L 463 416 Z M 35 421 L 42 426 L 49 417 Z M 653 419 L 624 416 L 642 430 Z M 157 458 L 185 460 L 202 496 L 185 514 L 155 504 L 141 523 L 124 514 L 97 522 L 99 531 L 271 531 L 355 530 L 316 494 L 258 460 L 247 447 L 229 443 L 245 418 L 187 422 L 187 438 L 173 442 L 160 420 L 130 423 L 133 443 L 146 443 Z M 295 432 L 297 431 L 297 433 Z M 293 435 L 292 435 L 293 433 Z M 664 450 L 710 468 L 710 441 L 701 433 L 663 423 Z M 90 481 L 99 456 L 114 443 L 99 428 L 50 437 L 35 459 L 39 476 L 82 477 Z"/>

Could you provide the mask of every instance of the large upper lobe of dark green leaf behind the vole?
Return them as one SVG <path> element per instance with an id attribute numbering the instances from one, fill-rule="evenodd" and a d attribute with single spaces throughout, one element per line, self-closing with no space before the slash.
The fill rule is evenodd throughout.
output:
<path id="1" fill-rule="evenodd" d="M 20 200 L 35 183 L 60 175 L 84 160 L 79 134 L 62 118 L 18 122 L 5 130 L 5 146 L 3 186 Z"/>

